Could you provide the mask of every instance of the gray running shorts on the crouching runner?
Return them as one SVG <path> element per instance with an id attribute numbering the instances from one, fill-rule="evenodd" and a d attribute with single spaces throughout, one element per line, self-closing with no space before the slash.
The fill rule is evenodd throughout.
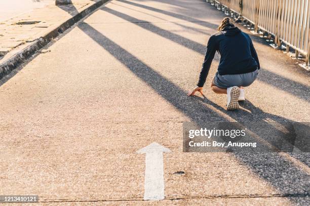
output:
<path id="1" fill-rule="evenodd" d="M 213 84 L 219 88 L 228 87 L 248 87 L 256 79 L 258 75 L 258 69 L 245 74 L 225 74 L 220 75 L 216 72 L 213 78 Z"/>

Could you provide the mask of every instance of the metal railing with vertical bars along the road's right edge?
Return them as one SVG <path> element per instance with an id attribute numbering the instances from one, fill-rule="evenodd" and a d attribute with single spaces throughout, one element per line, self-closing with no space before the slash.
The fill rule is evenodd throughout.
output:
<path id="1" fill-rule="evenodd" d="M 275 38 L 275 44 L 285 44 L 295 55 L 305 56 L 309 65 L 310 54 L 310 1 L 309 0 L 210 0 L 219 9 L 238 16 L 254 26 L 254 31 L 266 32 Z"/>

